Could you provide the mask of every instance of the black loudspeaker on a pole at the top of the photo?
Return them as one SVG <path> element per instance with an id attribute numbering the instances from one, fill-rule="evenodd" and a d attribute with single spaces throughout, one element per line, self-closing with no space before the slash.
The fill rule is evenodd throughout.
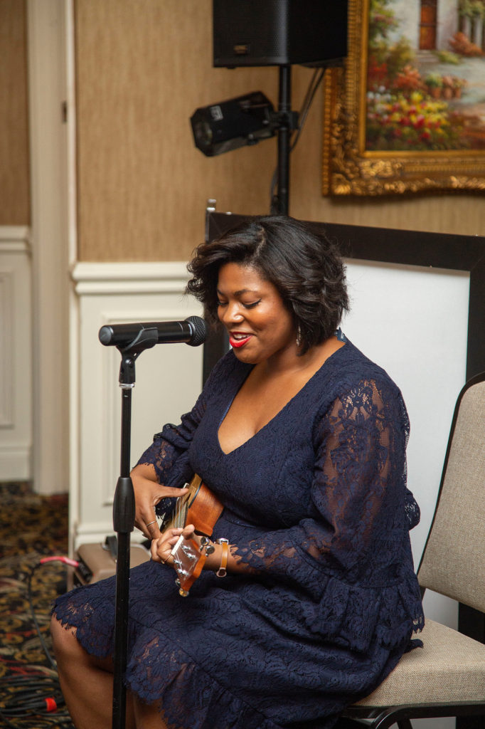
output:
<path id="1" fill-rule="evenodd" d="M 213 0 L 213 65 L 327 66 L 347 55 L 347 0 Z"/>

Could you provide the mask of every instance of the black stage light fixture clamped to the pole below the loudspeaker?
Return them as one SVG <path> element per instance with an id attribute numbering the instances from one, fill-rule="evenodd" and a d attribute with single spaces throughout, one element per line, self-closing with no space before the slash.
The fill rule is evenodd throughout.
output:
<path id="1" fill-rule="evenodd" d="M 269 139 L 278 125 L 273 105 L 261 91 L 196 109 L 190 123 L 195 146 L 206 157 Z"/>

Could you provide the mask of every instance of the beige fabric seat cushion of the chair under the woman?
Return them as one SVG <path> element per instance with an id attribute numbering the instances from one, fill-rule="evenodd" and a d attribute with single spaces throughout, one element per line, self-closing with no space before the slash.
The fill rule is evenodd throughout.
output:
<path id="1" fill-rule="evenodd" d="M 405 653 L 387 679 L 355 706 L 485 700 L 485 645 L 426 620 L 423 647 Z"/>

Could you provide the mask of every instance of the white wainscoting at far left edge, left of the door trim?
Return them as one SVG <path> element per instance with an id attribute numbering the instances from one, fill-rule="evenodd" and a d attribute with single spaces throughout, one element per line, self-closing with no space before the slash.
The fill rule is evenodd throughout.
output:
<path id="1" fill-rule="evenodd" d="M 0 480 L 32 476 L 31 249 L 25 226 L 0 226 Z"/>

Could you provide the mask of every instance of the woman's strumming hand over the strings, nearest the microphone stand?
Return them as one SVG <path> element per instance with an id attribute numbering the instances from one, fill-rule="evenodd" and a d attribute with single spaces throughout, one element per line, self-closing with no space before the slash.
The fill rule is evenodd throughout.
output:
<path id="1" fill-rule="evenodd" d="M 184 496 L 188 489 L 161 486 L 154 467 L 149 464 L 135 466 L 130 475 L 135 492 L 135 526 L 147 539 L 157 539 L 162 534 L 158 528 L 155 506 L 167 496 Z"/>

